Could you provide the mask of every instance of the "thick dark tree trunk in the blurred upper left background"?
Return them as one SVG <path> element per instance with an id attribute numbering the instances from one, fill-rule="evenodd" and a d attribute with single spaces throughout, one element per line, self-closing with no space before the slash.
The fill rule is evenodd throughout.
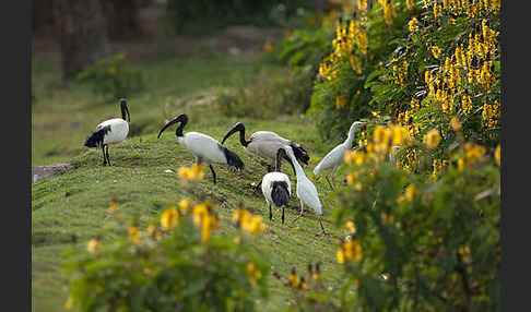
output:
<path id="1" fill-rule="evenodd" d="M 110 55 L 107 21 L 99 0 L 54 0 L 54 21 L 64 80 Z"/>

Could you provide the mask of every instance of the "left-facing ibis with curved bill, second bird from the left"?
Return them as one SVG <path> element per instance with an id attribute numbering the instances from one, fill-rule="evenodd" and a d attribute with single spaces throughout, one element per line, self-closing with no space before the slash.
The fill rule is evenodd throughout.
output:
<path id="1" fill-rule="evenodd" d="M 212 164 L 225 164 L 229 167 L 236 168 L 237 170 L 244 169 L 244 163 L 238 155 L 228 151 L 212 136 L 199 132 L 182 133 L 182 129 L 188 122 L 188 116 L 186 113 L 181 113 L 168 121 L 158 132 L 157 139 L 161 137 L 164 130 L 176 122 L 180 122 L 177 130 L 175 130 L 177 142 L 179 142 L 180 145 L 185 146 L 186 149 L 190 151 L 193 156 L 196 156 L 196 164 L 201 165 L 203 161 L 209 164 L 214 184 L 216 179 Z"/>

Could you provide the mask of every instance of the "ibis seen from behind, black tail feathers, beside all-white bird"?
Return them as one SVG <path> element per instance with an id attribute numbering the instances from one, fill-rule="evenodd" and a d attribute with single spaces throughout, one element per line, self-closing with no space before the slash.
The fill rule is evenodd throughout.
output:
<path id="1" fill-rule="evenodd" d="M 262 178 L 262 194 L 266 197 L 266 202 L 269 205 L 269 219 L 273 218 L 271 213 L 271 205 L 274 204 L 276 207 L 282 207 L 282 224 L 284 224 L 284 208 L 290 202 L 292 196 L 292 183 L 287 175 L 281 172 L 282 158 L 285 158 L 290 164 L 293 163 L 287 157 L 286 151 L 284 148 L 279 148 L 276 152 L 276 165 L 273 172 L 269 172 Z M 295 172 L 295 167 L 293 167 Z"/>

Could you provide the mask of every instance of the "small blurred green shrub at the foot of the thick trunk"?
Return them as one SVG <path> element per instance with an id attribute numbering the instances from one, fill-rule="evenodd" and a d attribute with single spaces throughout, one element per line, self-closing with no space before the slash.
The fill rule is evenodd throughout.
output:
<path id="1" fill-rule="evenodd" d="M 91 83 L 94 94 L 109 100 L 130 97 L 144 89 L 144 81 L 140 71 L 123 64 L 125 59 L 125 53 L 99 59 L 79 73 L 76 80 Z"/>

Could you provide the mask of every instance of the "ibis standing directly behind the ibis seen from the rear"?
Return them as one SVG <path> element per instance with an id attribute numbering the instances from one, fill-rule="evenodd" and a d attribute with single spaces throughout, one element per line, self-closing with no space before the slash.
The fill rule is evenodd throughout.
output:
<path id="1" fill-rule="evenodd" d="M 276 152 L 283 145 L 288 145 L 293 148 L 295 157 L 303 164 L 308 165 L 309 156 L 306 149 L 297 142 L 290 141 L 280 136 L 279 134 L 271 131 L 257 131 L 251 134 L 249 141 L 245 140 L 245 125 L 241 122 L 237 122 L 233 129 L 231 129 L 222 140 L 222 144 L 225 143 L 231 135 L 239 131 L 239 143 L 244 146 L 247 152 L 250 152 L 266 160 L 270 160 L 268 171 L 274 166 L 276 159 Z M 256 187 L 256 189 L 260 185 Z M 255 189 L 255 190 L 256 190 Z"/>

